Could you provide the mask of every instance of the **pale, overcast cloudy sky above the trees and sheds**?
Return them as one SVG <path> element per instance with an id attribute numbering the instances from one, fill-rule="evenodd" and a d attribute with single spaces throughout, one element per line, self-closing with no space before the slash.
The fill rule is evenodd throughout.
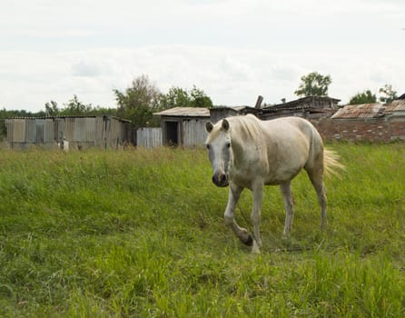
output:
<path id="1" fill-rule="evenodd" d="M 391 84 L 405 93 L 403 0 L 2 0 L 0 109 L 44 110 L 75 95 L 115 107 L 147 75 L 163 94 L 193 85 L 215 105 L 298 98 L 331 75 L 347 104 Z"/>

